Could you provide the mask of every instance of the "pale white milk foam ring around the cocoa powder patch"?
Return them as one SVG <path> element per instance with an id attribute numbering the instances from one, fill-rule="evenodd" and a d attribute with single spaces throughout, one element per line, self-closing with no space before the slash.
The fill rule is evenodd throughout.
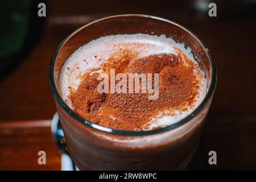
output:
<path id="1" fill-rule="evenodd" d="M 111 55 L 120 51 L 120 49 L 130 49 L 138 53 L 137 59 L 150 55 L 158 55 L 160 53 L 172 53 L 177 55 L 177 49 L 180 49 L 188 59 L 195 61 L 191 48 L 185 48 L 183 43 L 176 43 L 171 38 L 166 36 L 156 36 L 147 34 L 131 34 L 131 35 L 110 35 L 98 38 L 81 46 L 77 49 L 68 60 L 65 62 L 61 69 L 59 77 L 59 90 L 63 100 L 72 108 L 72 103 L 69 101 L 69 88 L 76 90 L 81 82 L 80 77 L 84 75 L 89 69 L 98 68 L 102 63 L 106 63 Z M 195 69 L 199 70 L 200 69 Z M 101 72 L 101 71 L 99 71 Z M 201 72 L 203 75 L 203 72 Z M 176 110 L 172 115 L 166 115 L 167 111 L 164 111 L 165 115 L 159 112 L 158 117 L 152 118 L 151 125 L 147 130 L 151 130 L 154 127 L 164 127 L 180 121 L 191 114 L 197 106 L 203 101 L 206 94 L 206 80 L 200 77 L 201 85 L 199 94 L 196 98 L 195 105 L 191 106 L 186 111 Z"/>

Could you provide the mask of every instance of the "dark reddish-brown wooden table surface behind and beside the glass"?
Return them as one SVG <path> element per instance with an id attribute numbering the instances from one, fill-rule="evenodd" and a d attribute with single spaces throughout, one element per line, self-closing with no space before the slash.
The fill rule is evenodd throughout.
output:
<path id="1" fill-rule="evenodd" d="M 256 169 L 256 17 L 205 18 L 166 5 L 49 1 L 46 28 L 32 52 L 0 82 L 0 169 L 60 169 L 50 120 L 55 103 L 48 66 L 58 44 L 82 24 L 106 15 L 140 13 L 163 16 L 189 28 L 209 46 L 217 63 L 218 81 L 205 123 L 203 158 L 217 152 L 217 165 L 207 169 Z M 175 7 L 175 6 L 174 6 Z M 38 151 L 47 165 L 37 164 Z"/>

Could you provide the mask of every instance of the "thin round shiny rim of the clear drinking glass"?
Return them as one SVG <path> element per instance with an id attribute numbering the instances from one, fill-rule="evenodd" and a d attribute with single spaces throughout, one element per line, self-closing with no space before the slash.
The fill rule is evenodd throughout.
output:
<path id="1" fill-rule="evenodd" d="M 69 106 L 67 104 L 65 104 L 65 102 L 63 101 L 63 99 L 61 98 L 59 92 L 57 91 L 56 85 L 55 85 L 55 80 L 54 80 L 54 65 L 55 65 L 55 60 L 57 57 L 57 54 L 59 53 L 60 49 L 64 46 L 64 44 L 69 40 L 69 38 L 71 38 L 73 35 L 75 35 L 77 32 L 79 32 L 80 30 L 82 30 L 83 28 L 92 26 L 93 24 L 96 23 L 100 23 L 103 22 L 105 20 L 109 20 L 109 19 L 114 19 L 114 18 L 129 18 L 129 17 L 134 17 L 134 18 L 151 18 L 151 19 L 156 19 L 156 20 L 161 20 L 167 23 L 171 23 L 174 24 L 175 26 L 182 28 L 184 31 L 187 31 L 193 38 L 196 39 L 196 41 L 205 49 L 207 49 L 207 46 L 203 43 L 203 41 L 201 41 L 199 39 L 199 37 L 197 35 L 195 35 L 192 31 L 188 30 L 187 28 L 181 26 L 180 24 L 177 24 L 175 22 L 172 22 L 171 20 L 168 19 L 164 19 L 164 18 L 160 18 L 158 16 L 151 16 L 151 15 L 142 15 L 142 14 L 123 14 L 123 15 L 114 15 L 114 16 L 108 16 L 105 18 L 100 18 L 100 19 L 96 19 L 93 20 L 92 22 L 86 23 L 84 26 L 81 26 L 80 28 L 77 28 L 75 31 L 73 31 L 71 34 L 69 34 L 61 43 L 60 45 L 57 47 L 55 53 L 53 54 L 51 63 L 49 65 L 49 72 L 48 72 L 48 76 L 49 76 L 49 85 L 51 88 L 51 91 L 53 93 L 53 97 L 55 98 L 55 100 L 57 101 L 57 103 L 64 109 L 65 112 L 67 112 L 67 114 L 71 115 L 71 117 L 73 117 L 76 121 L 82 123 L 83 125 L 90 127 L 92 129 L 96 129 L 96 130 L 100 130 L 103 131 L 105 133 L 109 133 L 109 134 L 115 134 L 115 135 L 126 135 L 126 136 L 140 136 L 140 135 L 151 135 L 151 134 L 158 134 L 158 133 L 163 133 L 164 131 L 169 131 L 172 129 L 176 129 L 177 127 L 180 127 L 182 125 L 184 125 L 185 123 L 191 121 L 191 119 L 195 118 L 197 114 L 200 113 L 200 111 L 204 108 L 204 106 L 208 103 L 208 101 L 210 100 L 210 98 L 212 97 L 214 90 L 216 88 L 216 82 L 217 82 L 217 71 L 216 71 L 216 64 L 215 61 L 213 59 L 212 53 L 209 51 L 205 51 L 207 53 L 208 59 L 210 60 L 210 65 L 212 68 L 212 78 L 210 80 L 210 86 L 208 89 L 207 94 L 204 97 L 204 100 L 201 101 L 200 105 L 196 107 L 195 110 L 193 110 L 193 112 L 189 115 L 187 115 L 187 117 L 181 119 L 180 121 L 173 123 L 171 125 L 168 126 L 164 126 L 158 129 L 154 129 L 154 130 L 139 130 L 139 131 L 135 131 L 135 130 L 117 130 L 117 129 L 110 129 L 108 127 L 104 127 L 104 126 L 100 126 L 97 124 L 94 124 L 88 120 L 86 120 L 85 118 L 80 117 L 79 114 L 75 113 L 75 111 L 73 111 L 71 108 L 69 108 Z"/>

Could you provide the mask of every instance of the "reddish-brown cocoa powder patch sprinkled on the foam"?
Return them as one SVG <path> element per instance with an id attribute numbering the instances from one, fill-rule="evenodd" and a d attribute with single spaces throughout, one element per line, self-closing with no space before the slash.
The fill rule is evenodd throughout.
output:
<path id="1" fill-rule="evenodd" d="M 144 130 L 160 111 L 185 111 L 199 94 L 200 81 L 193 61 L 179 53 L 135 59 L 136 54 L 122 51 L 110 57 L 101 69 L 115 73 L 159 73 L 159 96 L 148 100 L 148 93 L 99 93 L 97 74 L 85 74 L 76 91 L 69 94 L 73 109 L 83 118 L 119 130 Z M 185 59 L 185 61 L 183 61 Z M 154 84 L 153 84 L 154 85 Z M 168 113 L 170 115 L 170 112 Z"/>

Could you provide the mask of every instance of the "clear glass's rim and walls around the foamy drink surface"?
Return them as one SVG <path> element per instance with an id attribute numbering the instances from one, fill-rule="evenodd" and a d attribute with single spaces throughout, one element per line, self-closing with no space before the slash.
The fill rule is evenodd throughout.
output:
<path id="1" fill-rule="evenodd" d="M 172 37 L 190 47 L 204 72 L 207 94 L 191 114 L 159 129 L 123 131 L 96 125 L 65 104 L 58 91 L 59 75 L 76 49 L 101 36 L 151 32 Z M 63 40 L 49 67 L 49 82 L 68 151 L 80 170 L 185 169 L 199 143 L 216 81 L 213 57 L 195 34 L 170 20 L 148 15 L 117 15 L 85 24 Z"/>

